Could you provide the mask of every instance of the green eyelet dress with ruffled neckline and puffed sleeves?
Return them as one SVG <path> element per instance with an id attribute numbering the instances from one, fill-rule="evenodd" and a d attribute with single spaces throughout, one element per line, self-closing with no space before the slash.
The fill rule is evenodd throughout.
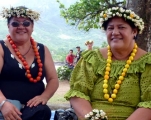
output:
<path id="1" fill-rule="evenodd" d="M 125 63 L 126 61 L 112 61 L 109 91 L 114 89 Z M 151 108 L 151 53 L 131 63 L 112 103 L 103 97 L 105 68 L 106 59 L 99 49 L 83 52 L 72 72 L 70 90 L 64 97 L 69 100 L 77 96 L 90 101 L 93 108 L 104 110 L 109 120 L 125 120 L 138 107 Z"/>

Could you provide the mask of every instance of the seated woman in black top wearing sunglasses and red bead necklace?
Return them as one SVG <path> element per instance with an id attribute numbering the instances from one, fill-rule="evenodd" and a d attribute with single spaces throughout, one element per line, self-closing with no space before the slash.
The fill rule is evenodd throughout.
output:
<path id="1" fill-rule="evenodd" d="M 50 120 L 46 103 L 58 77 L 48 48 L 31 37 L 40 14 L 21 6 L 4 8 L 2 17 L 9 35 L 0 41 L 0 119 Z"/>

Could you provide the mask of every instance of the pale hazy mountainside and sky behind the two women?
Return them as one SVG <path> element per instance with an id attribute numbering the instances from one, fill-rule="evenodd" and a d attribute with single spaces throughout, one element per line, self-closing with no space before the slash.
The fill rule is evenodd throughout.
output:
<path id="1" fill-rule="evenodd" d="M 60 1 L 68 7 L 78 0 Z M 60 16 L 59 4 L 56 0 L 12 0 L 7 4 L 2 3 L 1 1 L 0 10 L 2 7 L 26 6 L 41 13 L 40 20 L 35 22 L 33 38 L 47 45 L 54 61 L 65 61 L 65 56 L 70 49 L 76 53 L 76 46 L 81 46 L 82 50 L 86 49 L 84 43 L 87 40 L 93 40 L 96 47 L 106 41 L 104 32 L 100 29 L 85 32 L 66 24 L 65 19 Z M 8 34 L 6 20 L 0 18 L 0 26 L 0 38 L 4 39 Z"/>

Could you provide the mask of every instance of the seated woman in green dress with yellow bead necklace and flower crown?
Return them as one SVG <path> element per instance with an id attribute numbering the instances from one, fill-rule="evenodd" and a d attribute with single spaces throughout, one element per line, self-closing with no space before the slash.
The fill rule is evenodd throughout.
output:
<path id="1" fill-rule="evenodd" d="M 100 17 L 109 46 L 83 52 L 65 98 L 81 120 L 93 109 L 109 120 L 151 120 L 151 54 L 135 43 L 144 22 L 121 7 Z"/>

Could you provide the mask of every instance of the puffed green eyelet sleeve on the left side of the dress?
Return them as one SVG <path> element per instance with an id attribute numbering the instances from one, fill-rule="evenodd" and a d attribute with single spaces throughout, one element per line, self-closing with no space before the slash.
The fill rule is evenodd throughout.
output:
<path id="1" fill-rule="evenodd" d="M 94 61 L 94 54 L 94 51 L 84 51 L 82 56 L 89 59 L 88 61 Z M 70 90 L 64 97 L 69 100 L 71 97 L 76 96 L 91 101 L 89 96 L 91 96 L 95 80 L 96 76 L 91 63 L 81 57 L 72 72 Z"/>

